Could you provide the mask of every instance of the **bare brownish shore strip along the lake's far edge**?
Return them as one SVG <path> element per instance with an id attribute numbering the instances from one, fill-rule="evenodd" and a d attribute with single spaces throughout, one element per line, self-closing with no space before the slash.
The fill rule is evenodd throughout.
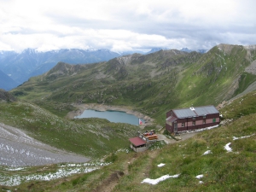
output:
<path id="1" fill-rule="evenodd" d="M 121 106 L 112 106 L 112 105 L 90 103 L 90 104 L 73 104 L 73 107 L 78 108 L 78 109 L 76 111 L 71 111 L 71 112 L 67 113 L 67 118 L 68 119 L 73 119 L 74 117 L 79 116 L 86 109 L 92 109 L 92 110 L 96 110 L 96 111 L 108 111 L 108 110 L 122 111 L 122 112 L 125 112 L 125 113 L 128 113 L 128 114 L 133 114 L 133 115 L 137 116 L 138 118 L 144 119 L 144 121 L 145 121 L 144 126 L 145 125 L 152 125 L 153 122 L 154 122 L 154 119 L 148 117 L 148 115 L 137 112 L 137 111 L 135 111 L 132 108 L 127 107 L 127 106 L 121 107 Z"/>

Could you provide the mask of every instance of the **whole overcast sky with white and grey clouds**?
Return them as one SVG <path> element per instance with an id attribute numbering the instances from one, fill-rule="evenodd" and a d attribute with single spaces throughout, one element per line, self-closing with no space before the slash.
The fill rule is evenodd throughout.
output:
<path id="1" fill-rule="evenodd" d="M 255 0 L 0 0 L 0 50 L 256 44 Z"/>

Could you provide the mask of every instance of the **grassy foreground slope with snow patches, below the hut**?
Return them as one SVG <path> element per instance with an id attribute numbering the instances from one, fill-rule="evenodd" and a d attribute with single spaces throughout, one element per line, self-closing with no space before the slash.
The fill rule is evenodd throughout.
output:
<path id="1" fill-rule="evenodd" d="M 113 182 L 116 185 L 112 191 L 253 191 L 256 108 L 251 106 L 256 106 L 255 96 L 256 91 L 221 109 L 224 119 L 236 117 L 230 124 L 203 131 L 189 140 L 139 154 L 116 152 L 113 164 L 101 170 L 49 182 L 23 183 L 13 189 L 23 191 L 30 186 L 31 191 L 93 191 L 106 189 Z M 233 140 L 244 136 L 250 137 Z M 227 143 L 232 148 L 230 153 L 224 149 Z M 212 154 L 202 155 L 207 150 Z M 166 166 L 158 167 L 160 163 Z M 114 172 L 125 175 L 117 178 Z M 180 176 L 156 185 L 141 183 L 146 177 L 155 179 L 167 174 Z M 201 174 L 204 177 L 195 178 Z"/>

